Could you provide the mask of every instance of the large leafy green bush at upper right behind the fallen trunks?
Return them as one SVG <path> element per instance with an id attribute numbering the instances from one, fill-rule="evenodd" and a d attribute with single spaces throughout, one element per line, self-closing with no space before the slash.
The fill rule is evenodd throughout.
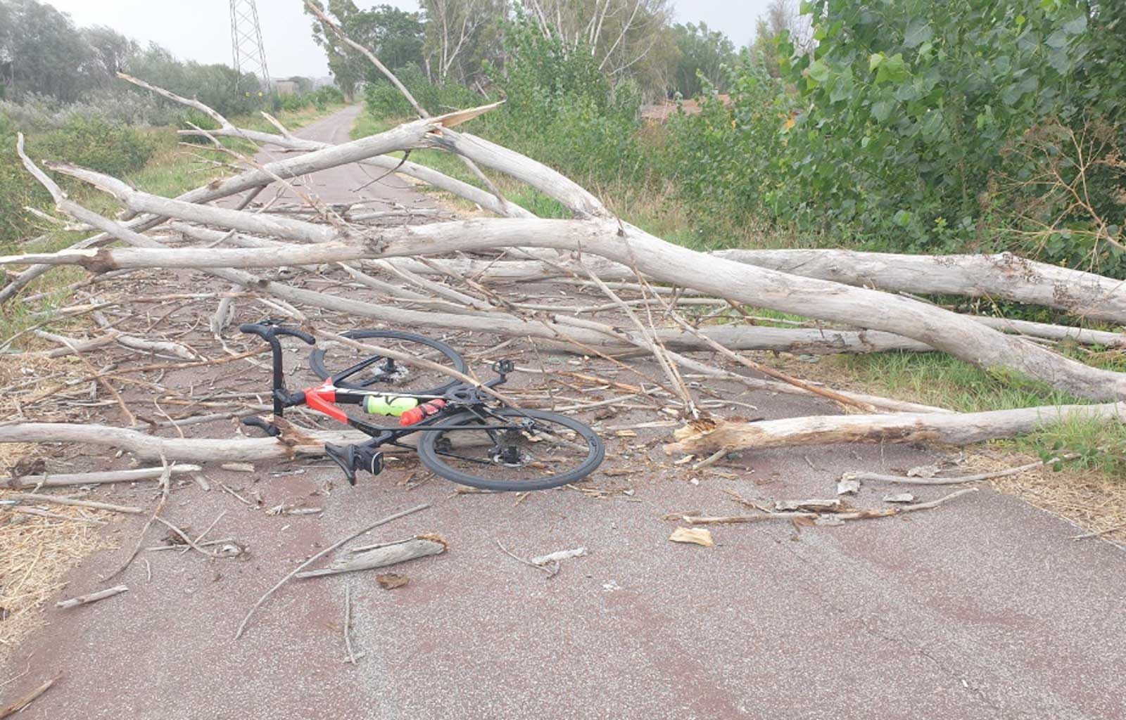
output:
<path id="1" fill-rule="evenodd" d="M 744 54 L 730 105 L 706 93 L 670 124 L 668 166 L 690 200 L 865 249 L 1015 249 L 1126 276 L 1107 240 L 1126 225 L 1114 165 L 1126 6 L 815 0 L 803 12 L 812 54 L 783 34 L 780 79 Z M 1083 166 L 1069 132 L 1101 155 Z M 1085 199 L 1105 223 L 1053 196 L 1045 171 L 1098 174 Z"/>

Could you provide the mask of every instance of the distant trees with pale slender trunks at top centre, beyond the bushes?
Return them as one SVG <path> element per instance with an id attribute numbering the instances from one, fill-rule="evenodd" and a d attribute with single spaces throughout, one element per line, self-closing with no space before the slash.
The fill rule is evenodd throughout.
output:
<path id="1" fill-rule="evenodd" d="M 635 83 L 646 100 L 694 97 L 703 89 L 701 79 L 722 88 L 722 69 L 738 57 L 735 44 L 704 22 L 673 24 L 670 0 L 421 0 L 418 12 L 390 4 L 365 10 L 352 0 L 321 4 L 385 65 L 439 86 L 497 82 L 510 60 L 508 35 L 525 20 L 557 40 L 564 54 L 589 54 L 613 84 Z M 789 3 L 774 0 L 774 6 Z M 777 34 L 786 27 L 772 22 L 770 29 Z M 366 58 L 315 20 L 313 37 L 349 97 L 360 82 L 382 80 Z"/>

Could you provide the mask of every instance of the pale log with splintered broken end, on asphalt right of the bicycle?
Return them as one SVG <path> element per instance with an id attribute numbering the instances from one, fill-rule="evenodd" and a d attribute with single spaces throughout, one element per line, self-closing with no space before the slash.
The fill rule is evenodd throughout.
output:
<path id="1" fill-rule="evenodd" d="M 1073 417 L 1121 422 L 1126 403 L 1022 407 L 984 413 L 904 413 L 902 415 L 828 415 L 735 423 L 697 421 L 676 432 L 667 453 L 704 454 L 721 449 L 765 450 L 841 442 L 941 442 L 971 444 L 1013 438 Z"/>

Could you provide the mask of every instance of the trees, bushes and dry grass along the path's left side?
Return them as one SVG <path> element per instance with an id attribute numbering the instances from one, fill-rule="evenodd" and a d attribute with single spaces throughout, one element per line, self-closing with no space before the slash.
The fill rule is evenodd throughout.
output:
<path id="1" fill-rule="evenodd" d="M 47 39 L 28 48 L 23 45 L 28 37 Z M 178 61 L 159 46 L 142 48 L 106 27 L 78 28 L 69 17 L 35 0 L 0 0 L 3 56 L 35 60 L 12 64 L 0 76 L 0 252 L 5 253 L 29 240 L 35 240 L 36 250 L 57 250 L 89 234 L 66 230 L 68 222 L 54 216 L 51 197 L 16 155 L 17 133 L 25 135 L 28 153 L 36 160 L 71 162 L 169 197 L 232 171 L 230 155 L 204 144 L 180 145 L 177 129 L 189 123 L 212 126 L 209 118 L 118 80 L 116 68 L 177 93 L 199 97 L 239 126 L 253 129 L 274 132 L 259 110 L 297 128 L 343 104 L 337 88 L 313 89 L 307 80 L 304 92 L 259 97 L 253 76 L 240 79 L 225 65 Z M 78 74 L 74 68 L 81 69 Z M 223 144 L 240 153 L 256 152 L 244 141 L 224 140 Z M 116 214 L 111 198 L 66 178 L 56 179 L 78 201 Z M 38 279 L 28 291 L 46 292 L 48 306 L 59 305 L 69 297 L 66 286 L 80 274 L 61 269 Z M 44 320 L 24 312 L 21 305 L 10 304 L 0 314 L 0 336 L 6 340 Z"/>

